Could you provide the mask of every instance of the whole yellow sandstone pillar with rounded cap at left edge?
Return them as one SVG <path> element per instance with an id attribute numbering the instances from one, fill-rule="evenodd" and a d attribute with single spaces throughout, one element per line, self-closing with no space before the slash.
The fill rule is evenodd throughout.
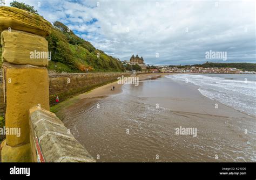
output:
<path id="1" fill-rule="evenodd" d="M 31 162 L 29 109 L 49 110 L 48 42 L 51 25 L 41 16 L 0 7 L 6 134 L 2 162 Z M 19 134 L 17 133 L 19 132 Z"/>

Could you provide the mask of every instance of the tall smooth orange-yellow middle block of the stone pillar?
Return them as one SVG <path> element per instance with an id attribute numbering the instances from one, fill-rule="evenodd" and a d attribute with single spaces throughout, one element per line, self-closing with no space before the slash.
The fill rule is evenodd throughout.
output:
<path id="1" fill-rule="evenodd" d="M 29 143 L 29 109 L 38 104 L 49 110 L 49 82 L 46 68 L 3 63 L 6 87 L 6 127 L 21 128 L 21 136 L 6 136 L 9 146 Z"/>

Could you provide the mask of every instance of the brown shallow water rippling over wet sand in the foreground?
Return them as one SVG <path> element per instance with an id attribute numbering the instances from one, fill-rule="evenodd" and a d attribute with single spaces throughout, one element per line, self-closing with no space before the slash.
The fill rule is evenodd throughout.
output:
<path id="1" fill-rule="evenodd" d="M 98 162 L 255 162 L 256 119 L 215 109 L 197 89 L 166 77 L 126 84 L 63 110 L 63 122 Z M 180 126 L 197 136 L 177 135 Z"/>

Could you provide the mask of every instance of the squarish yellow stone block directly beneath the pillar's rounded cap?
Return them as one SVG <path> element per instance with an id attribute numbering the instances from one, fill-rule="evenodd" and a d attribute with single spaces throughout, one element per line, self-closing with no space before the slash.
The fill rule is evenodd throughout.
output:
<path id="1" fill-rule="evenodd" d="M 1 44 L 3 61 L 48 66 L 48 41 L 39 35 L 5 30 L 1 33 Z"/>

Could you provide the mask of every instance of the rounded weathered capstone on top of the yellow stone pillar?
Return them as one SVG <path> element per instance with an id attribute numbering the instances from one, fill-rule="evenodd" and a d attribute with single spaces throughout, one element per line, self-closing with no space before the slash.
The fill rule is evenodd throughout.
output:
<path id="1" fill-rule="evenodd" d="M 46 37 L 51 33 L 52 26 L 42 16 L 18 8 L 0 6 L 0 32 L 19 30 Z"/>

